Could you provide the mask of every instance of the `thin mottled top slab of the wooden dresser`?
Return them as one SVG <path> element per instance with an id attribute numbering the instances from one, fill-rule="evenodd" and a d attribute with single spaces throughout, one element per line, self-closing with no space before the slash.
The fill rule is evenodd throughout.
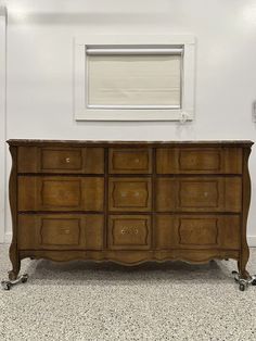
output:
<path id="1" fill-rule="evenodd" d="M 99 147 L 108 146 L 137 146 L 137 147 L 154 147 L 154 146 L 191 146 L 191 147 L 252 147 L 254 144 L 251 140 L 193 140 L 193 141 L 101 141 L 101 140 L 33 140 L 33 139 L 11 139 L 7 141 L 10 146 L 73 146 L 82 147 L 88 144 L 97 144 Z"/>

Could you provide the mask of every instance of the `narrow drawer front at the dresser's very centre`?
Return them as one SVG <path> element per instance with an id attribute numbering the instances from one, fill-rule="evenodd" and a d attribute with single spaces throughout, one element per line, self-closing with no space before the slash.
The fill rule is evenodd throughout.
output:
<path id="1" fill-rule="evenodd" d="M 110 178 L 110 211 L 151 211 L 151 179 Z"/>

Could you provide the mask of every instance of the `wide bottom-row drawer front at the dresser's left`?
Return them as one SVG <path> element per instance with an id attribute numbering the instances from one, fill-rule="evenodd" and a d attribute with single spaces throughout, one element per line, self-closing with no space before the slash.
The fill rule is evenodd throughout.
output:
<path id="1" fill-rule="evenodd" d="M 103 215 L 20 214 L 21 250 L 101 250 Z"/>

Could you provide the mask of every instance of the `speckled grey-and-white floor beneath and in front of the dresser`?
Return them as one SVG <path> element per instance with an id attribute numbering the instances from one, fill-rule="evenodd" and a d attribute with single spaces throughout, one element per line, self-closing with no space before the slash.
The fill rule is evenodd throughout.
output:
<path id="1" fill-rule="evenodd" d="M 10 269 L 0 245 L 0 276 Z M 0 290 L 0 340 L 255 340 L 256 287 L 241 292 L 234 261 L 123 267 L 22 262 L 25 285 Z M 256 274 L 256 249 L 249 271 Z"/>

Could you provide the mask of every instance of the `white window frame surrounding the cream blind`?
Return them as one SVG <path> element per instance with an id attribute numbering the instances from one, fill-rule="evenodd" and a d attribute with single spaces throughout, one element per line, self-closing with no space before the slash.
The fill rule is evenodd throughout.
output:
<path id="1" fill-rule="evenodd" d="M 120 105 L 91 108 L 87 105 L 87 46 L 132 46 L 142 48 L 151 46 L 177 47 L 183 49 L 181 76 L 181 108 L 121 108 Z M 194 118 L 194 71 L 195 71 L 195 38 L 189 35 L 175 36 L 101 36 L 89 35 L 76 37 L 74 40 L 75 74 L 74 74 L 74 106 L 76 121 L 192 121 Z"/>

